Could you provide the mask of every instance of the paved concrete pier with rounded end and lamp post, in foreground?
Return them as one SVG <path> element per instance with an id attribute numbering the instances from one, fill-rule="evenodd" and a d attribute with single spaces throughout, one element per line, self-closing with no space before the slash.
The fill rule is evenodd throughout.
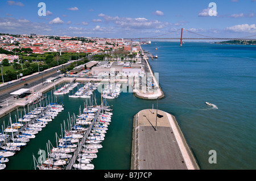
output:
<path id="1" fill-rule="evenodd" d="M 198 170 L 174 116 L 158 110 L 142 110 L 134 116 L 131 170 Z M 157 125 L 157 126 L 156 126 Z"/>

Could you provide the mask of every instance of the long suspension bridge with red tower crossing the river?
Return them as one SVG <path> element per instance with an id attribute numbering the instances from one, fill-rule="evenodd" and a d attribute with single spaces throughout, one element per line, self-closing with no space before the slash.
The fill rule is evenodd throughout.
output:
<path id="1" fill-rule="evenodd" d="M 181 31 L 180 37 L 160 37 L 160 36 L 169 35 L 171 33 L 175 33 L 178 31 Z M 183 31 L 192 33 L 194 35 L 199 35 L 199 37 L 183 37 Z M 254 38 L 251 38 L 251 37 L 254 37 Z M 212 36 L 201 35 L 199 33 L 186 30 L 185 28 L 181 28 L 179 30 L 164 33 L 162 35 L 156 35 L 156 36 L 151 36 L 151 37 L 124 38 L 124 39 L 131 40 L 131 41 L 139 40 L 140 44 L 141 44 L 141 40 L 180 40 L 180 46 L 182 46 L 183 40 L 254 40 L 255 41 L 256 35 L 246 36 L 246 37 L 212 37 Z"/>

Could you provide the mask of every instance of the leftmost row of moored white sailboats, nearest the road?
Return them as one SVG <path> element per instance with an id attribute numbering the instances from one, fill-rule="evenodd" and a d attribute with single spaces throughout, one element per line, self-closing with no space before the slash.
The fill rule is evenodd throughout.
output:
<path id="1" fill-rule="evenodd" d="M 47 100 L 45 101 L 47 102 Z M 42 103 L 40 105 L 44 104 Z M 34 107 L 34 104 L 30 106 Z M 20 112 L 21 117 L 19 118 L 17 109 L 17 115 L 15 115 L 16 122 L 12 123 L 11 115 L 6 128 L 5 121 L 3 122 L 3 132 L 1 131 L 0 140 L 0 148 L 2 149 L 0 151 L 0 157 L 6 158 L 18 154 L 23 146 L 29 144 L 28 142 L 30 139 L 35 138 L 35 135 L 42 131 L 48 122 L 52 121 L 52 119 L 63 110 L 64 108 L 62 105 L 49 103 L 46 107 L 31 108 L 31 111 L 28 113 L 24 110 L 24 116 L 21 116 L 22 113 Z M 16 116 L 18 116 L 18 118 Z"/>

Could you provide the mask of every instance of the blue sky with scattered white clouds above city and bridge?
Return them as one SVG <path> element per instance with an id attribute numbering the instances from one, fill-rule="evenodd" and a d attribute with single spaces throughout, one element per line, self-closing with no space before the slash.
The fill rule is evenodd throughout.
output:
<path id="1" fill-rule="evenodd" d="M 39 2 L 46 16 L 39 16 Z M 217 16 L 209 16 L 210 2 Z M 212 37 L 256 35 L 256 0 L 1 1 L 0 32 L 84 37 L 150 37 L 185 28 Z M 161 37 L 178 37 L 180 31 Z M 184 37 L 199 37 L 184 31 Z"/>

